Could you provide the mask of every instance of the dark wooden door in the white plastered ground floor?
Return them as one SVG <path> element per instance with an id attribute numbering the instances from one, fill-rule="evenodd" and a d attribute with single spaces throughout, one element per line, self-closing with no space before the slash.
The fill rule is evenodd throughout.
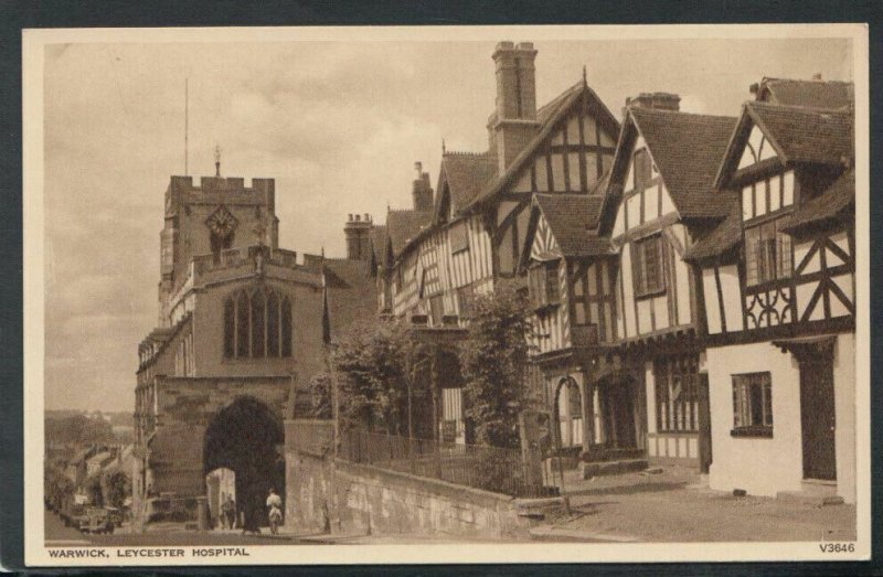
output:
<path id="1" fill-rule="evenodd" d="M 800 363 L 804 479 L 837 479 L 834 378 L 830 359 Z"/>

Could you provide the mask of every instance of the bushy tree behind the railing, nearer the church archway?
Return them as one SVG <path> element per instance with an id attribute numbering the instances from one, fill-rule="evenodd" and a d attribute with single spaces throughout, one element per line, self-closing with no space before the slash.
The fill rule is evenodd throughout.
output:
<path id="1" fill-rule="evenodd" d="M 338 380 L 340 417 L 369 430 L 407 432 L 409 362 L 415 345 L 404 322 L 354 323 L 334 343 L 331 365 Z"/>

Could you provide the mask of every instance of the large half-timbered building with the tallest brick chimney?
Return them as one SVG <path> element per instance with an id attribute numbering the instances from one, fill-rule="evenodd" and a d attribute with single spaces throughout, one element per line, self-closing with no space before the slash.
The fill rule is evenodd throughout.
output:
<path id="1" fill-rule="evenodd" d="M 535 56 L 529 42 L 497 45 L 488 149 L 444 151 L 428 226 L 390 253 L 390 312 L 437 329 L 443 340 L 468 323 L 476 295 L 517 277 L 532 195 L 586 195 L 613 162 L 619 125 L 585 76 L 538 108 Z M 390 218 L 386 228 L 392 238 Z M 440 420 L 465 439 L 460 380 L 458 371 L 449 374 L 439 385 Z"/>

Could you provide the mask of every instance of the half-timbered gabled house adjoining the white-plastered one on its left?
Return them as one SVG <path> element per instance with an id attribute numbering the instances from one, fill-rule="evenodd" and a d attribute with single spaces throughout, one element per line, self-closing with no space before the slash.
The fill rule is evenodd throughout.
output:
<path id="1" fill-rule="evenodd" d="M 632 427 L 651 462 L 701 466 L 701 304 L 683 256 L 726 216 L 726 197 L 710 193 L 736 119 L 680 113 L 679 100 L 642 94 L 626 108 L 599 233 L 618 254 L 615 333 L 629 376 L 607 386 L 639 407 Z"/>

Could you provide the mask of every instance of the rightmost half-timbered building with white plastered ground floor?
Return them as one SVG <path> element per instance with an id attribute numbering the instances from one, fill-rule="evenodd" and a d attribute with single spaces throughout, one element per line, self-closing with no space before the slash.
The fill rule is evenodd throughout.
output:
<path id="1" fill-rule="evenodd" d="M 709 481 L 854 502 L 851 85 L 754 92 L 716 177 L 736 192 L 731 214 L 688 254 L 708 332 Z"/>

